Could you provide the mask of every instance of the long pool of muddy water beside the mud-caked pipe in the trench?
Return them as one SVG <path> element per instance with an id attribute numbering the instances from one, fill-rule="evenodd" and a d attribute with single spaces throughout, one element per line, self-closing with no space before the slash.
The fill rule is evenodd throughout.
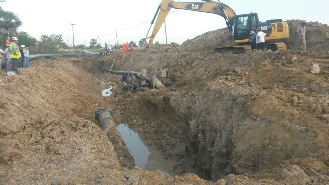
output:
<path id="1" fill-rule="evenodd" d="M 171 176 L 178 175 L 172 172 L 176 162 L 164 159 L 161 150 L 156 149 L 156 146 L 146 145 L 147 142 L 139 137 L 137 130 L 130 129 L 126 124 L 119 124 L 118 130 L 130 154 L 134 156 L 136 166 L 146 171 L 160 170 Z"/>

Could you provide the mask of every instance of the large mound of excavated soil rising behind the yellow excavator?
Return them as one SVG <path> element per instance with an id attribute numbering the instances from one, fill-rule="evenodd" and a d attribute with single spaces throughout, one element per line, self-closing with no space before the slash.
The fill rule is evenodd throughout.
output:
<path id="1" fill-rule="evenodd" d="M 300 20 L 287 20 L 290 37 L 276 42 L 285 42 L 288 49 L 292 49 L 296 38 L 296 28 Z M 215 47 L 232 45 L 229 43 L 229 30 L 222 28 L 189 39 L 178 46 L 180 51 L 213 51 Z M 309 51 L 324 51 L 329 47 L 329 26 L 318 22 L 306 24 L 306 44 Z"/>

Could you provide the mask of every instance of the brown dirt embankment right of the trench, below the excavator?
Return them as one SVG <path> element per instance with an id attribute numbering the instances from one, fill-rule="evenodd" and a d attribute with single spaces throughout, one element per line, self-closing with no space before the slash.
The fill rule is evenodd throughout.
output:
<path id="1" fill-rule="evenodd" d="M 116 69 L 125 68 L 130 56 L 121 55 Z M 147 53 L 134 57 L 143 61 L 135 66 L 154 65 Z M 290 51 L 183 52 L 168 53 L 167 58 L 159 66 L 173 68 L 170 74 L 178 92 L 132 94 L 118 102 L 122 105 L 117 112 L 133 104 L 137 107 L 133 114 L 140 118 L 117 117 L 139 127 L 168 155 L 187 164 L 187 172 L 216 180 L 329 149 L 328 52 L 308 56 Z M 315 64 L 318 74 L 311 72 Z M 145 120 L 151 122 L 145 125 Z"/>

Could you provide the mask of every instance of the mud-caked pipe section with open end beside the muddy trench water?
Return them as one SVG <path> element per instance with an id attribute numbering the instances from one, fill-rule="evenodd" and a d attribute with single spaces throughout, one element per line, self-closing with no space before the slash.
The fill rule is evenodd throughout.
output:
<path id="1" fill-rule="evenodd" d="M 100 109 L 95 111 L 95 119 L 98 120 L 98 126 L 102 128 L 113 144 L 119 164 L 122 167 L 133 169 L 135 167 L 134 159 L 129 153 L 128 148 L 116 127 L 113 113 L 106 109 Z"/>

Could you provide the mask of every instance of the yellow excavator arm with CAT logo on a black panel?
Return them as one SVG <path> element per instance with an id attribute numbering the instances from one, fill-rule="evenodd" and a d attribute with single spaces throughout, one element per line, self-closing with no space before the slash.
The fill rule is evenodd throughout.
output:
<path id="1" fill-rule="evenodd" d="M 146 47 L 147 48 L 151 47 L 162 52 L 168 50 L 168 47 L 159 47 L 154 45 L 153 40 L 157 35 L 157 33 L 159 32 L 171 8 L 181 9 L 181 10 L 191 10 L 196 12 L 215 13 L 217 15 L 222 16 L 225 19 L 227 26 L 230 27 L 229 22 L 236 15 L 234 10 L 232 10 L 229 6 L 220 2 L 215 2 L 212 0 L 203 0 L 203 1 L 205 2 L 177 2 L 173 0 L 163 0 L 159 5 L 158 10 L 151 22 L 151 26 L 152 26 L 156 18 L 156 15 L 159 13 L 155 26 L 153 28 L 152 35 L 149 37 L 147 37 L 146 35 L 146 38 L 144 39 Z M 148 43 L 147 43 L 147 39 L 150 39 Z"/>

